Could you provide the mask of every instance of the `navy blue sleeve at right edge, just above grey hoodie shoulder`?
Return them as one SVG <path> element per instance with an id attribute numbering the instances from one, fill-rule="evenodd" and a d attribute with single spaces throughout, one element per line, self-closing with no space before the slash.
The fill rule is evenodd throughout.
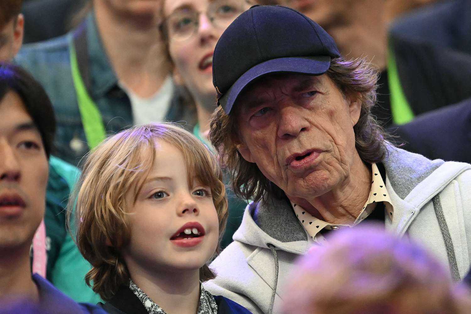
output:
<path id="1" fill-rule="evenodd" d="M 390 131 L 406 142 L 401 148 L 407 151 L 430 159 L 471 163 L 471 98 L 422 114 Z"/>

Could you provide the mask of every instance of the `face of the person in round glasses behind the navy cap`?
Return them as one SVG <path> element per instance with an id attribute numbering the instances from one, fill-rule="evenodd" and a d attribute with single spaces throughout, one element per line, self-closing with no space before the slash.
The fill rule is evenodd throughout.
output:
<path id="1" fill-rule="evenodd" d="M 166 28 L 173 29 L 169 31 L 173 34 L 184 32 L 195 25 L 189 22 L 190 12 L 203 12 L 198 16 L 195 32 L 191 36 L 185 40 L 176 40 L 177 36 L 169 38 L 175 79 L 185 85 L 193 97 L 215 97 L 212 85 L 214 48 L 227 26 L 249 7 L 244 0 L 165 0 L 163 15 Z M 214 18 L 213 23 L 211 18 Z"/>

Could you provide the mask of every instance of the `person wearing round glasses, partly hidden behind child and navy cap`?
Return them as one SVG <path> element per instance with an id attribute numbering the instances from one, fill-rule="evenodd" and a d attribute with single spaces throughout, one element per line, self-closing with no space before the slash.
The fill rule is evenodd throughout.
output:
<path id="1" fill-rule="evenodd" d="M 197 123 L 193 134 L 212 148 L 208 140 L 211 113 L 216 109 L 212 85 L 212 54 L 222 32 L 242 12 L 250 8 L 247 0 L 165 0 L 161 26 L 173 65 L 173 79 L 195 104 Z M 185 97 L 179 97 L 185 99 Z M 176 100 L 175 100 L 176 101 Z M 226 176 L 226 183 L 228 176 Z M 225 248 L 242 221 L 247 201 L 228 189 L 229 218 L 221 242 Z"/>

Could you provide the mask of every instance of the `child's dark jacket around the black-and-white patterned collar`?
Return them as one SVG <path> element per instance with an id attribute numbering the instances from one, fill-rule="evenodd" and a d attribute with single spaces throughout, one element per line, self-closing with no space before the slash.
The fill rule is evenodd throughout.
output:
<path id="1" fill-rule="evenodd" d="M 221 296 L 214 296 L 218 314 L 250 314 L 245 307 Z M 122 286 L 114 297 L 99 304 L 109 314 L 148 314 L 144 305 L 127 286 Z"/>

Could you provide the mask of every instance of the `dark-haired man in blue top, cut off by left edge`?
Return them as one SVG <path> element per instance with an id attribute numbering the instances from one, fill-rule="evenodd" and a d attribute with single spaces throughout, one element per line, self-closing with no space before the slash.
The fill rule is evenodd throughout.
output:
<path id="1" fill-rule="evenodd" d="M 0 115 L 0 303 L 23 298 L 49 313 L 104 313 L 31 275 L 30 247 L 44 216 L 56 123 L 41 85 L 15 65 L 0 63 Z"/>

